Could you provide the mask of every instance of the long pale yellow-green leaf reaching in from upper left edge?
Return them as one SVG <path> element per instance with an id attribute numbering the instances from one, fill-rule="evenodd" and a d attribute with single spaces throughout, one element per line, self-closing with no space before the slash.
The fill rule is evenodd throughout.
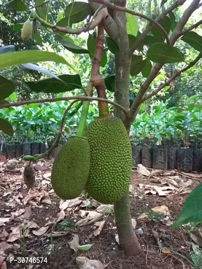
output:
<path id="1" fill-rule="evenodd" d="M 0 55 L 0 70 L 26 63 L 38 62 L 56 62 L 71 67 L 62 56 L 57 55 L 55 52 L 44 50 L 21 50 Z"/>

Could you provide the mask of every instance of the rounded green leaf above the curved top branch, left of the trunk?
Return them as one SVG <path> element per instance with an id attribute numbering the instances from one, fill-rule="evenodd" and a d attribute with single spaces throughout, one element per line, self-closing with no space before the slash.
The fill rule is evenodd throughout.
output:
<path id="1" fill-rule="evenodd" d="M 73 5 L 73 8 L 72 8 Z M 71 12 L 72 9 L 72 12 Z M 70 15 L 71 12 L 71 15 Z M 71 23 L 78 23 L 86 19 L 92 13 L 91 7 L 85 2 L 74 2 L 67 6 L 65 9 L 65 17 L 70 16 Z"/>

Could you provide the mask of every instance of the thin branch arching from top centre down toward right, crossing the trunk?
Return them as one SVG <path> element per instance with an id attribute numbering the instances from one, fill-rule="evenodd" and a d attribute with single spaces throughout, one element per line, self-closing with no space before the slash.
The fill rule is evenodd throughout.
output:
<path id="1" fill-rule="evenodd" d="M 99 3 L 99 4 L 102 4 L 102 5 L 105 5 L 106 7 L 110 8 L 110 9 L 113 9 L 115 11 L 122 11 L 122 12 L 126 12 L 126 13 L 129 13 L 129 14 L 132 14 L 132 15 L 135 15 L 137 17 L 140 17 L 142 19 L 145 19 L 149 22 L 151 22 L 152 24 L 155 24 L 157 27 L 159 27 L 162 32 L 165 34 L 165 37 L 166 37 L 166 41 L 167 43 L 169 44 L 169 37 L 168 37 L 168 34 L 166 32 L 166 30 L 161 26 L 161 24 L 159 24 L 156 20 L 153 20 L 149 17 L 147 17 L 146 15 L 144 14 L 141 14 L 139 12 L 136 12 L 136 11 L 132 11 L 132 10 L 129 10 L 129 9 L 126 9 L 126 8 L 122 8 L 122 7 L 119 7 L 119 6 L 116 6 L 114 4 L 111 4 L 110 2 L 108 2 L 107 0 L 90 0 L 92 2 L 96 2 L 96 3 Z"/>

